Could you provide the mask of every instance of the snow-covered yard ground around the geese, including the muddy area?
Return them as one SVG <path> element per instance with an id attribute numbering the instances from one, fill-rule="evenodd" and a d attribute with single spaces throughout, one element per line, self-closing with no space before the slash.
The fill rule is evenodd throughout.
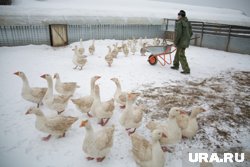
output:
<path id="1" fill-rule="evenodd" d="M 57 139 L 52 137 L 48 142 L 41 141 L 41 137 L 46 134 L 36 130 L 35 116 L 25 115 L 26 110 L 30 106 L 34 106 L 34 104 L 22 99 L 22 81 L 13 75 L 16 71 L 25 72 L 32 86 L 46 86 L 46 81 L 40 76 L 45 73 L 53 75 L 57 72 L 63 81 L 76 81 L 81 86 L 77 89 L 74 97 L 89 94 L 90 78 L 94 75 L 101 75 L 102 78 L 97 83 L 100 85 L 102 100 L 112 98 L 115 84 L 110 81 L 110 78 L 118 77 L 123 90 L 142 93 L 137 103 L 145 104 L 149 111 L 144 115 L 143 124 L 138 129 L 138 133 L 148 139 L 150 139 L 150 133 L 145 128 L 145 124 L 149 119 L 164 120 L 168 113 L 167 109 L 170 107 L 169 103 L 171 103 L 171 100 L 167 101 L 169 100 L 166 99 L 167 97 L 175 97 L 177 101 L 172 101 L 172 104 L 180 104 L 181 107 L 187 110 L 192 108 L 192 102 L 195 105 L 202 105 L 207 110 L 207 113 L 199 116 L 201 130 L 199 130 L 195 139 L 191 141 L 183 140 L 180 144 L 177 144 L 173 153 L 166 153 L 167 162 L 165 166 L 181 167 L 182 151 L 188 147 L 205 149 L 211 147 L 211 149 L 214 149 L 214 147 L 218 148 L 217 145 L 220 145 L 220 148 L 228 149 L 231 146 L 243 148 L 243 150 L 249 152 L 250 133 L 249 126 L 247 126 L 249 125 L 249 117 L 243 117 L 246 115 L 241 114 L 243 110 L 240 111 L 239 106 L 234 107 L 238 104 L 243 105 L 243 102 L 245 105 L 249 103 L 250 91 L 247 80 L 250 72 L 249 55 L 191 46 L 186 50 L 191 68 L 190 75 L 182 75 L 179 71 L 171 70 L 168 65 L 164 67 L 159 64 L 151 66 L 147 62 L 147 57 L 140 56 L 139 52 L 128 57 L 125 57 L 123 53 L 119 53 L 118 58 L 114 60 L 110 68 L 107 66 L 104 56 L 108 52 L 107 46 L 116 42 L 119 45 L 121 44 L 121 41 L 116 40 L 96 41 L 96 53 L 93 56 L 88 55 L 88 62 L 82 71 L 72 69 L 74 67 L 72 48 L 79 43 L 58 48 L 46 45 L 0 48 L 0 166 L 135 166 L 130 152 L 130 138 L 118 122 L 122 112 L 118 106 L 116 106 L 114 116 L 108 123 L 108 126 L 111 124 L 116 126 L 114 146 L 102 163 L 85 159 L 86 155 L 82 151 L 85 130 L 79 128 L 79 124 L 80 120 L 87 117 L 77 111 L 71 102 L 64 114 L 77 116 L 80 119 L 68 131 L 65 138 Z M 85 41 L 83 44 L 85 48 L 88 48 L 91 43 L 92 41 Z M 245 75 L 240 71 L 247 73 Z M 239 82 L 246 81 L 245 84 L 240 85 L 239 91 L 236 89 L 239 85 L 233 78 L 238 78 L 237 81 Z M 213 92 L 213 90 L 218 90 L 218 92 Z M 171 93 L 178 94 L 178 92 L 179 96 L 171 95 Z M 197 94 L 192 96 L 190 92 Z M 210 95 L 206 96 L 207 93 L 210 93 Z M 185 97 L 183 99 L 182 96 L 185 95 L 193 97 L 193 100 L 196 101 L 190 101 L 190 98 L 185 99 Z M 236 98 L 236 95 L 239 96 Z M 178 97 L 182 101 L 178 102 Z M 215 99 L 211 97 L 215 97 Z M 233 99 L 234 97 L 235 99 Z M 224 108 L 221 107 L 225 102 L 223 102 L 223 99 L 226 99 L 228 103 L 230 102 L 229 106 L 233 106 L 233 108 L 230 108 L 233 111 L 231 113 L 232 117 L 234 114 L 240 113 L 242 116 L 239 120 L 245 120 L 245 123 L 236 122 L 234 125 L 237 126 L 229 126 L 232 122 L 228 124 L 227 120 L 229 118 L 226 116 L 222 117 L 222 120 L 218 120 L 224 111 Z M 182 103 L 185 100 L 187 103 Z M 234 103 L 234 101 L 236 102 Z M 41 109 L 46 115 L 55 115 L 55 112 L 48 110 L 45 106 L 42 106 Z M 249 108 L 245 112 L 249 113 Z M 237 118 L 235 119 L 237 120 Z M 99 125 L 96 125 L 95 119 L 91 119 L 91 122 L 95 125 L 95 128 L 100 128 Z M 227 138 L 220 138 L 220 135 L 214 133 L 216 127 L 218 133 L 224 135 L 230 133 L 230 141 Z M 239 142 L 236 142 L 236 139 Z M 227 164 L 227 166 L 234 165 Z M 249 161 L 238 164 L 238 166 L 249 166 Z"/>

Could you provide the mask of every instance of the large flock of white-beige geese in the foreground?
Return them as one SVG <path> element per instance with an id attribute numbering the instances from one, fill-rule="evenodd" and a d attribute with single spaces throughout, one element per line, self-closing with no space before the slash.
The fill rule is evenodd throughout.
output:
<path id="1" fill-rule="evenodd" d="M 80 51 L 82 50 L 77 52 Z M 122 91 L 118 78 L 110 79 L 116 85 L 114 96 L 108 101 L 101 101 L 100 87 L 96 84 L 101 76 L 91 78 L 91 89 L 88 96 L 73 98 L 75 91 L 80 86 L 76 82 L 62 82 L 58 73 L 55 73 L 53 77 L 50 74 L 40 76 L 47 82 L 48 86 L 44 88 L 31 87 L 24 72 L 18 71 L 14 74 L 23 81 L 21 91 L 23 99 L 37 105 L 30 107 L 26 114 L 34 114 L 36 129 L 48 134 L 42 140 L 48 141 L 51 136 L 65 137 L 65 133 L 78 120 L 77 117 L 62 114 L 69 101 L 79 112 L 89 117 L 80 123 L 80 127 L 84 127 L 86 132 L 82 150 L 86 153 L 87 160 L 96 159 L 97 162 L 103 161 L 113 146 L 115 126 L 108 125 L 108 122 L 113 116 L 115 105 L 119 105 L 122 110 L 119 122 L 131 138 L 133 159 L 140 167 L 163 167 L 165 164 L 164 152 L 171 152 L 168 146 L 179 143 L 182 137 L 193 138 L 198 130 L 196 117 L 205 111 L 201 107 L 194 107 L 189 116 L 188 112 L 181 108 L 171 108 L 164 123 L 149 121 L 146 124 L 146 128 L 152 133 L 150 142 L 135 133 L 136 129 L 141 127 L 145 110 L 145 106 L 135 103 L 140 93 Z M 53 84 L 53 80 L 55 80 L 55 84 Z M 53 117 L 44 115 L 41 105 L 56 111 L 57 115 Z M 95 131 L 91 125 L 93 117 L 97 118 L 97 123 L 102 127 L 98 131 Z"/>

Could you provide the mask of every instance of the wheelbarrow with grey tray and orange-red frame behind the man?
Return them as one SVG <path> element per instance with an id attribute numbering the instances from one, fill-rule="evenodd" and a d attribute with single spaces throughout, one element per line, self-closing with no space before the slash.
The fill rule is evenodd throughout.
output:
<path id="1" fill-rule="evenodd" d="M 166 64 L 170 65 L 172 63 L 171 54 L 175 51 L 176 48 L 173 44 L 165 46 L 148 46 L 147 52 L 151 53 L 148 57 L 148 62 L 151 65 L 157 64 L 158 61 L 162 66 Z"/>

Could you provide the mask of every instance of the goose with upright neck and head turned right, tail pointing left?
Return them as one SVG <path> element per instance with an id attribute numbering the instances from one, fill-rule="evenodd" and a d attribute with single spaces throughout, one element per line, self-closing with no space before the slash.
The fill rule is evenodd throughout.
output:
<path id="1" fill-rule="evenodd" d="M 94 87 L 95 82 L 100 79 L 101 76 L 94 76 L 90 80 L 90 95 L 80 97 L 78 99 L 71 99 L 71 101 L 75 104 L 76 108 L 81 111 L 82 113 L 87 113 L 89 117 L 92 117 L 92 115 L 89 114 L 91 106 L 94 102 Z"/>

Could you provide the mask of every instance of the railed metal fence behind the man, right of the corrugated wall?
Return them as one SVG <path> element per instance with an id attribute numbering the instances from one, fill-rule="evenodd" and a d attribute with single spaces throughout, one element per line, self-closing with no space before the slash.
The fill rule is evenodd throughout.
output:
<path id="1" fill-rule="evenodd" d="M 166 19 L 166 38 L 173 38 L 175 20 Z M 250 54 L 250 27 L 191 21 L 192 45 Z"/>

